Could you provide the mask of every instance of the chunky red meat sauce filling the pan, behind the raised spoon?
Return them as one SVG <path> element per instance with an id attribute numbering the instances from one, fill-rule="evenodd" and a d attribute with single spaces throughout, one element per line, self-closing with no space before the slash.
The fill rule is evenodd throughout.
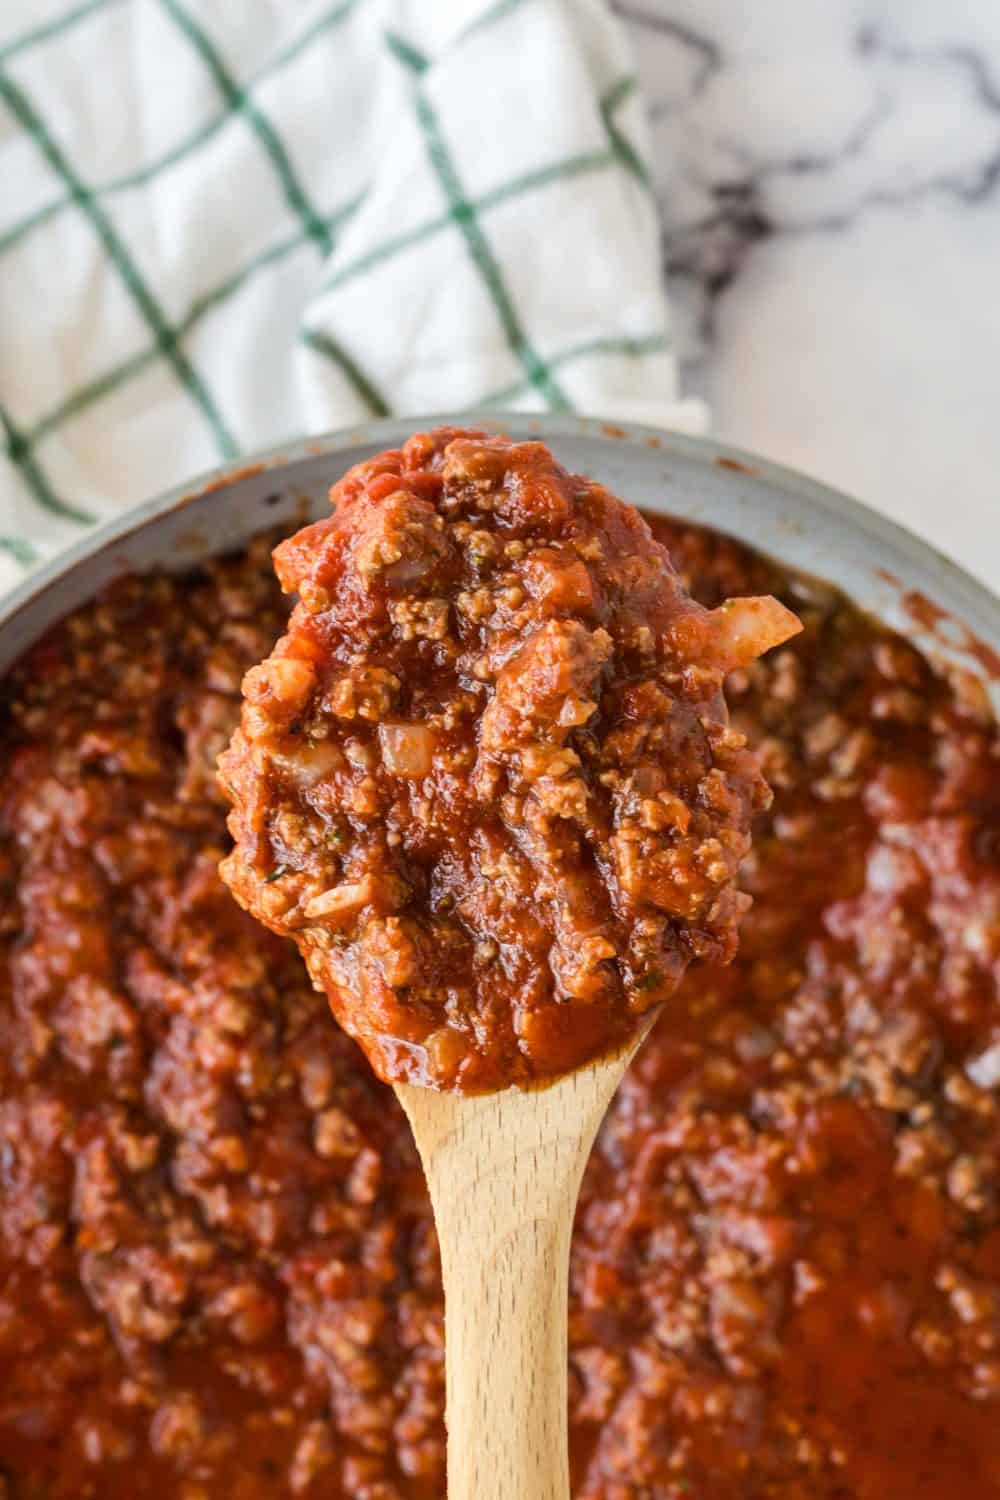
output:
<path id="1" fill-rule="evenodd" d="M 1000 1497 L 1000 777 L 967 684 L 834 591 L 652 520 L 774 804 L 729 968 L 594 1150 L 576 1500 Z M 285 627 L 268 548 L 115 585 L 6 684 L 3 1500 L 439 1500 L 442 1298 L 402 1113 L 243 914 L 214 759 Z"/>

